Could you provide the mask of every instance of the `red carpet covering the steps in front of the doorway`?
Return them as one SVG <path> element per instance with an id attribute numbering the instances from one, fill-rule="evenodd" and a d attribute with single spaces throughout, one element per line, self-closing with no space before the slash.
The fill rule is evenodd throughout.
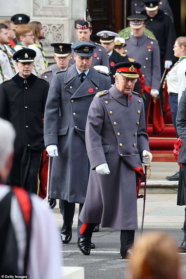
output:
<path id="1" fill-rule="evenodd" d="M 170 110 L 163 116 L 165 128 L 157 135 L 153 135 L 152 124 L 148 125 L 148 136 L 150 151 L 153 154 L 153 161 L 175 162 L 173 154 L 174 144 L 177 140 L 175 129 L 172 123 Z"/>

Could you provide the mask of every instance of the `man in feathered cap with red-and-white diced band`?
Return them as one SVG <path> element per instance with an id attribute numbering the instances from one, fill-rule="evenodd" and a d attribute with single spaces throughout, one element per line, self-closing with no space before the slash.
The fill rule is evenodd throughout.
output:
<path id="1" fill-rule="evenodd" d="M 108 67 L 110 70 L 109 59 L 105 49 L 99 43 L 94 43 L 90 40 L 90 35 L 92 34 L 91 23 L 88 20 L 78 20 L 76 32 L 79 42 L 89 42 L 96 47 L 94 50 L 94 56 L 92 57 L 92 66 L 102 65 Z M 72 60 L 70 61 L 72 64 L 75 63 L 73 55 L 74 51 L 72 50 Z"/>

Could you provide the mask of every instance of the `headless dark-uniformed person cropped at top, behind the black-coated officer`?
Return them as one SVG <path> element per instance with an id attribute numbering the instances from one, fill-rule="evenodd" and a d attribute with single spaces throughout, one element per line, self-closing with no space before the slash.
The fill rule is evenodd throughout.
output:
<path id="1" fill-rule="evenodd" d="M 131 1 L 131 15 L 137 14 L 144 10 L 144 0 L 132 0 Z M 164 11 L 164 13 L 167 13 L 171 21 L 174 23 L 174 17 L 173 12 L 170 8 L 168 0 L 161 0 L 159 1 L 160 9 Z"/>

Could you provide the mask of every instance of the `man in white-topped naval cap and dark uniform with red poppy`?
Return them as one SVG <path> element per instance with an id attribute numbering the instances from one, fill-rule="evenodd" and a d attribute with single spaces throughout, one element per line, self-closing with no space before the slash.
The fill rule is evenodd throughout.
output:
<path id="1" fill-rule="evenodd" d="M 113 66 L 121 62 L 129 62 L 129 58 L 126 54 L 118 53 L 116 50 L 114 50 L 114 46 L 115 46 L 114 38 L 118 36 L 117 33 L 104 30 L 98 32 L 96 35 L 100 37 L 100 42 L 102 46 L 106 49 L 107 55 L 109 57 L 109 64 L 110 64 L 110 71 L 111 71 L 110 74 L 111 86 L 113 86 L 115 83 L 115 73 L 116 73 L 116 69 L 114 69 Z M 140 94 L 141 90 L 140 90 L 139 80 L 135 84 L 134 91 Z"/>

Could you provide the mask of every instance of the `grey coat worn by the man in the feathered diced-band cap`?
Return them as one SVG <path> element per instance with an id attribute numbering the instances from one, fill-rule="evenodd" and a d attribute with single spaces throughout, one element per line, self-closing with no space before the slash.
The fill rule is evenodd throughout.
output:
<path id="1" fill-rule="evenodd" d="M 99 43 L 92 42 L 91 40 L 89 40 L 89 43 L 96 46 L 96 48 L 94 49 L 94 56 L 92 57 L 92 66 L 94 67 L 97 65 L 102 65 L 108 67 L 108 69 L 110 70 L 109 58 L 104 47 L 102 47 L 102 45 L 100 45 Z M 73 49 L 72 49 L 72 59 L 70 60 L 70 63 L 71 64 L 75 63 Z"/>

